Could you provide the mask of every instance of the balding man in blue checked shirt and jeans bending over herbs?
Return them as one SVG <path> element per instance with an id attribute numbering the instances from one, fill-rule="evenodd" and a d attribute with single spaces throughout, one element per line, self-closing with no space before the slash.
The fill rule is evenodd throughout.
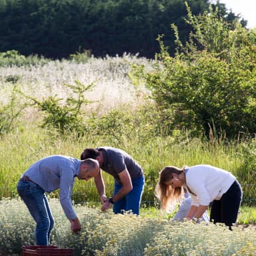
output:
<path id="1" fill-rule="evenodd" d="M 45 192 L 60 189 L 60 203 L 71 223 L 71 231 L 81 230 L 81 223 L 71 202 L 75 177 L 88 181 L 99 173 L 95 159 L 81 161 L 64 155 L 51 155 L 35 162 L 17 184 L 17 191 L 37 223 L 35 240 L 37 245 L 49 245 L 54 219 Z"/>

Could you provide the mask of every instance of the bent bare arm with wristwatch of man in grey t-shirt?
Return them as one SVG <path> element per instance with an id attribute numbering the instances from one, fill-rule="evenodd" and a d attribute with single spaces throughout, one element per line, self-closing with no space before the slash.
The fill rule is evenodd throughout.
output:
<path id="1" fill-rule="evenodd" d="M 131 183 L 131 176 L 129 175 L 129 172 L 125 168 L 121 173 L 118 174 L 120 181 L 122 183 L 121 189 L 112 197 L 113 202 L 119 201 L 121 198 L 125 197 L 127 193 L 129 193 L 133 189 L 133 184 Z M 102 211 L 106 211 L 111 207 L 111 203 L 107 201 L 102 207 Z"/>

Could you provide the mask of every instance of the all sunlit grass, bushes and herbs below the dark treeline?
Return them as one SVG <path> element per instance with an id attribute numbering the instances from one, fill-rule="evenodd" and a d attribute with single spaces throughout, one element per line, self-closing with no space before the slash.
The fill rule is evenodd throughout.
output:
<path id="1" fill-rule="evenodd" d="M 173 25 L 174 57 L 161 37 L 154 60 L 0 53 L 0 253 L 20 255 L 22 245 L 35 242 L 35 223 L 16 191 L 27 167 L 47 155 L 79 158 L 85 147 L 110 145 L 145 171 L 141 214 L 101 213 L 93 181 L 76 181 L 72 196 L 83 229 L 70 232 L 52 198 L 58 191 L 51 193 L 52 245 L 74 255 L 255 255 L 255 227 L 244 225 L 256 219 L 255 31 L 239 23 L 230 29 L 213 9 L 198 17 L 187 11 L 193 32 L 184 44 Z M 231 171 L 243 187 L 232 232 L 161 215 L 154 195 L 159 171 L 200 163 Z M 113 178 L 103 175 L 110 197 Z"/>

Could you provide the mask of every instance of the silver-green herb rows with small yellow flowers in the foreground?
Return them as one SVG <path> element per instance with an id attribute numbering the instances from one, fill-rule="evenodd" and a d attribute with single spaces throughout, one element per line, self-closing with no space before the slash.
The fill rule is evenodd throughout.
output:
<path id="1" fill-rule="evenodd" d="M 51 244 L 74 249 L 74 255 L 97 256 L 241 256 L 253 255 L 256 233 L 251 227 L 233 227 L 163 218 L 114 215 L 76 206 L 82 223 L 79 235 L 69 229 L 60 203 L 50 200 L 55 217 Z M 22 245 L 33 245 L 35 223 L 19 199 L 0 201 L 0 251 L 20 254 Z"/>

